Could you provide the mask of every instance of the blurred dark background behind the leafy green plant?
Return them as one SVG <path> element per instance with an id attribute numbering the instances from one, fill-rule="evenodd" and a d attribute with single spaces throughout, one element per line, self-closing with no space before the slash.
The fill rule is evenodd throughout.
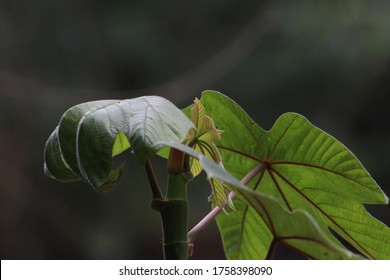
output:
<path id="1" fill-rule="evenodd" d="M 43 174 L 62 113 L 84 101 L 215 89 L 264 128 L 305 115 L 390 194 L 390 2 L 0 0 L 0 256 L 160 259 L 159 216 L 135 158 L 110 194 Z M 164 180 L 165 163 L 155 159 Z M 209 210 L 189 187 L 191 225 Z M 367 206 L 390 225 L 387 206 Z M 279 258 L 295 258 L 281 250 Z M 223 259 L 215 225 L 194 258 Z"/>

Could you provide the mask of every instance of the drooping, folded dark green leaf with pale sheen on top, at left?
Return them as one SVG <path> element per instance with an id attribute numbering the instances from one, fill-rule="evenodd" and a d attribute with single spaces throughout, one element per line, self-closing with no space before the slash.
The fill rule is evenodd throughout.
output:
<path id="1" fill-rule="evenodd" d="M 45 173 L 108 191 L 121 175 L 121 167 L 112 169 L 113 156 L 131 147 L 145 163 L 157 152 L 156 142 L 182 142 L 192 127 L 181 110 L 158 96 L 79 104 L 64 113 L 46 143 Z"/>

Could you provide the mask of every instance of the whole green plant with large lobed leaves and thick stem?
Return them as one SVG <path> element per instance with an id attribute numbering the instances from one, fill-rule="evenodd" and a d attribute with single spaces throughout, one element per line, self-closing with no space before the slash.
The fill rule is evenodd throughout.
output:
<path id="1" fill-rule="evenodd" d="M 165 259 L 187 259 L 214 218 L 228 259 L 270 259 L 279 243 L 310 259 L 390 259 L 389 227 L 363 205 L 388 198 L 351 151 L 299 114 L 282 115 L 266 131 L 215 91 L 184 110 L 158 96 L 83 103 L 47 140 L 44 171 L 108 192 L 123 170 L 112 168 L 113 157 L 127 149 L 145 166 Z M 154 155 L 167 158 L 165 195 Z M 187 183 L 201 170 L 213 209 L 189 231 Z"/>

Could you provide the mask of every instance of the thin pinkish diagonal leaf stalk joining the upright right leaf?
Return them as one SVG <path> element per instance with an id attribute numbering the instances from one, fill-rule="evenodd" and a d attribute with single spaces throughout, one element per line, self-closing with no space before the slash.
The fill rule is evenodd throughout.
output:
<path id="1" fill-rule="evenodd" d="M 251 171 L 248 172 L 248 174 L 245 175 L 244 178 L 242 178 L 241 183 L 244 185 L 247 185 L 257 174 L 264 171 L 267 168 L 267 165 L 264 163 L 259 163 L 255 168 L 253 168 Z M 234 192 L 230 192 L 229 198 L 234 199 L 236 197 L 236 194 Z M 224 204 L 224 207 L 226 206 L 227 202 Z M 223 208 L 216 206 L 213 208 L 196 226 L 194 226 L 189 232 L 188 232 L 188 242 L 190 246 L 193 246 L 193 243 L 195 242 L 196 238 L 200 235 L 201 232 L 203 232 L 204 228 L 214 220 L 214 218 L 222 212 Z"/>

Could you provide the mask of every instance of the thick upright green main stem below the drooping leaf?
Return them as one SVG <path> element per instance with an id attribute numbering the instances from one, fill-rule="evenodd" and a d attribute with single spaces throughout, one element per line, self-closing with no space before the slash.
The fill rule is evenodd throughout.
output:
<path id="1" fill-rule="evenodd" d="M 166 199 L 166 205 L 160 211 L 164 234 L 164 259 L 188 259 L 187 181 L 181 174 L 168 174 Z"/>

